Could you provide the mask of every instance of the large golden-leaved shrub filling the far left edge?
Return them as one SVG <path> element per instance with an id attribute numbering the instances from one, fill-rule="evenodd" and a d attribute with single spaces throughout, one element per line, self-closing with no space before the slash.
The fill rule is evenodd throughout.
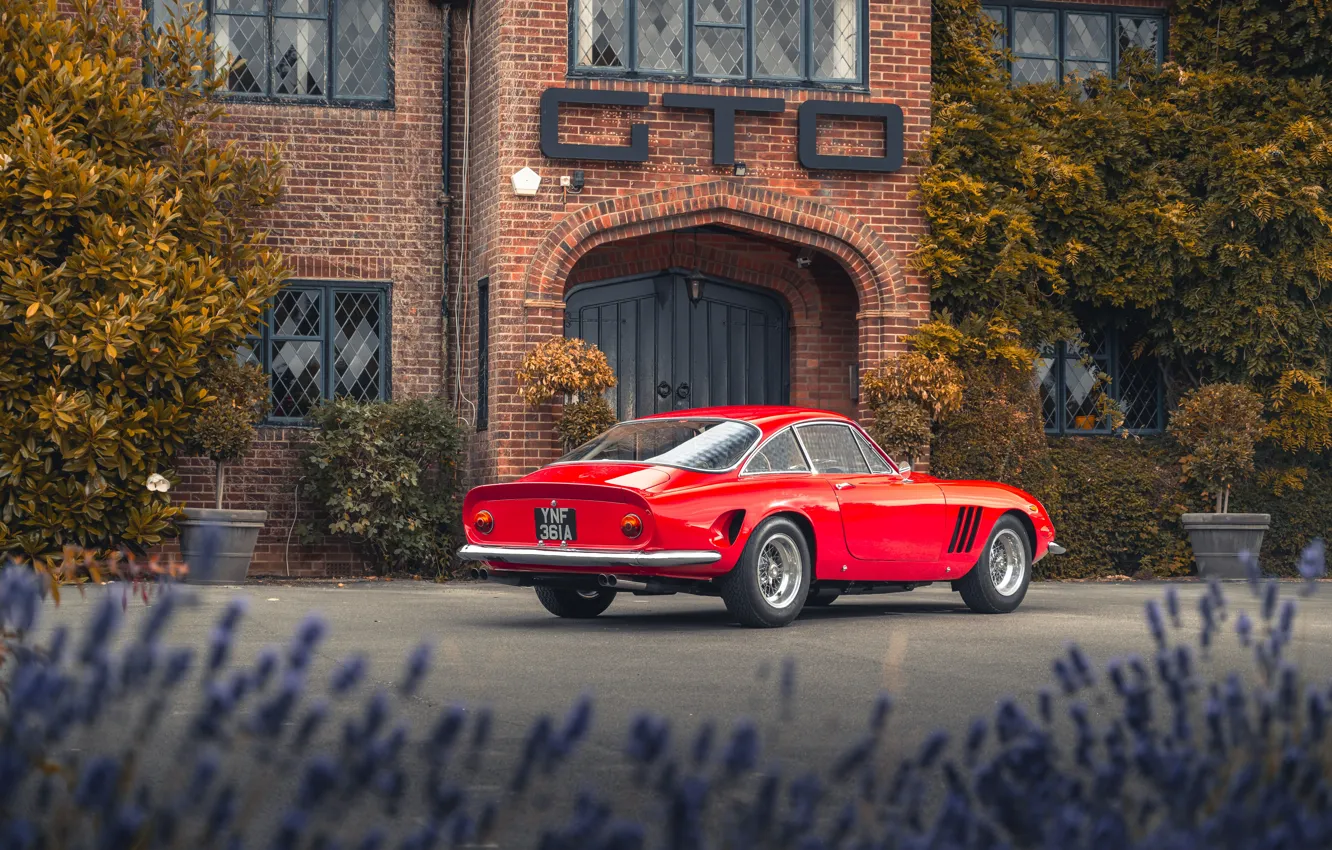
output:
<path id="1" fill-rule="evenodd" d="M 0 560 L 160 542 L 200 366 L 284 276 L 252 226 L 273 149 L 209 139 L 209 39 L 72 5 L 0 3 Z"/>

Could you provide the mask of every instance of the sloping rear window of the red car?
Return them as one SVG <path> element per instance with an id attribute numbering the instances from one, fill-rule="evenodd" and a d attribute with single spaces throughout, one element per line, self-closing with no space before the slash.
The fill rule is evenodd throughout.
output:
<path id="1" fill-rule="evenodd" d="M 735 420 L 638 420 L 615 425 L 559 460 L 639 461 L 721 472 L 739 462 L 758 437 L 758 428 Z"/>

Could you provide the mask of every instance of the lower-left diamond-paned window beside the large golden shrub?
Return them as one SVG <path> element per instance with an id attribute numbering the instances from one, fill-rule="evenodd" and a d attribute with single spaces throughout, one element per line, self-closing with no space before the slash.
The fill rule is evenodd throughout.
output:
<path id="1" fill-rule="evenodd" d="M 326 398 L 388 397 L 388 289 L 292 282 L 273 298 L 262 334 L 237 356 L 269 374 L 273 422 L 300 422 Z"/>

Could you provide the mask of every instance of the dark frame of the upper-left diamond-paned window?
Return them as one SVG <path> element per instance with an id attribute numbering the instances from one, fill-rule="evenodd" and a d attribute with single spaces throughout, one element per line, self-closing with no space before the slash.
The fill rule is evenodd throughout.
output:
<path id="1" fill-rule="evenodd" d="M 156 27 L 159 25 L 156 20 L 156 7 L 160 0 L 144 0 L 144 11 L 149 15 L 149 20 Z M 208 28 L 208 33 L 213 36 L 213 16 L 216 0 L 181 0 L 182 4 L 201 3 L 204 7 L 204 25 Z M 397 3 L 394 0 L 382 0 L 384 3 L 384 97 L 354 97 L 354 96 L 341 96 L 334 92 L 337 88 L 337 9 L 341 5 L 341 0 L 328 0 L 328 13 L 322 17 L 309 16 L 309 15 L 276 15 L 273 12 L 274 0 L 262 0 L 265 12 L 262 15 L 256 13 L 238 13 L 237 17 L 264 17 L 266 27 L 265 49 L 272 53 L 273 49 L 273 21 L 274 19 L 306 19 L 306 20 L 324 20 L 326 21 L 326 48 L 325 48 L 325 64 L 328 67 L 328 81 L 324 87 L 326 91 L 324 95 L 273 95 L 273 93 L 250 93 L 250 92 L 217 92 L 218 100 L 225 100 L 229 103 L 249 103 L 249 104 L 276 104 L 276 105 L 305 105 L 305 107 L 337 107 L 344 109 L 394 109 L 397 100 L 397 80 L 394 73 L 394 56 L 396 51 L 396 19 L 397 19 Z M 229 15 L 222 12 L 221 15 Z M 216 37 L 216 36 L 214 36 Z M 269 63 L 265 65 L 265 89 L 272 92 L 273 88 L 273 68 L 272 56 L 269 56 Z"/>

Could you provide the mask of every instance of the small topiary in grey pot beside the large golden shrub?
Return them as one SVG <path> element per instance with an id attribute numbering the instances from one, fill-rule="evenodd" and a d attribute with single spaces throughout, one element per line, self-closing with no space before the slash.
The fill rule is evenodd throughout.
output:
<path id="1" fill-rule="evenodd" d="M 245 581 L 265 510 L 225 510 L 226 465 L 249 450 L 254 428 L 268 413 L 268 377 L 254 365 L 224 357 L 205 368 L 204 389 L 213 397 L 193 421 L 186 450 L 213 461 L 212 508 L 185 508 L 178 521 L 186 581 L 234 585 Z"/>

